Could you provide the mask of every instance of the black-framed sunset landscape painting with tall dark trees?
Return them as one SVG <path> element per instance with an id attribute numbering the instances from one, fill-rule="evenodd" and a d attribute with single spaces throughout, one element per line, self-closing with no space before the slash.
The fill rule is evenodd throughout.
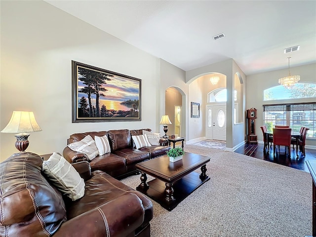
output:
<path id="1" fill-rule="evenodd" d="M 140 121 L 141 79 L 72 61 L 73 122 Z"/>

